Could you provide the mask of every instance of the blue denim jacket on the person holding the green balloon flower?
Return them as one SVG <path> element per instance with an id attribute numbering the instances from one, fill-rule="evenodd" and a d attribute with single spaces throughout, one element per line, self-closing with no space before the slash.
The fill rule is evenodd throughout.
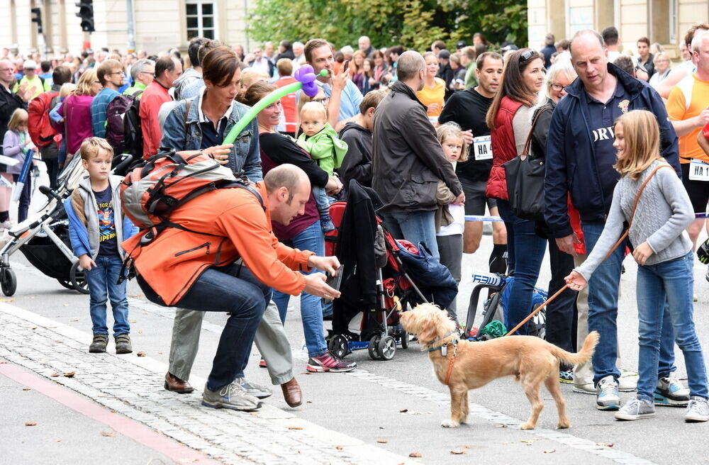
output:
<path id="1" fill-rule="evenodd" d="M 165 120 L 162 128 L 162 147 L 173 148 L 174 150 L 201 150 L 202 130 L 199 124 L 199 106 L 202 104 L 203 93 L 189 99 L 191 106 L 189 115 L 185 117 L 187 101 L 180 101 Z M 231 116 L 227 122 L 224 133 L 229 130 L 249 111 L 249 107 L 242 103 L 234 102 Z M 234 141 L 234 147 L 229 154 L 229 162 L 226 164 L 233 172 L 244 171 L 251 181 L 261 181 L 263 174 L 261 170 L 261 155 L 259 152 L 259 129 L 254 118 Z"/>

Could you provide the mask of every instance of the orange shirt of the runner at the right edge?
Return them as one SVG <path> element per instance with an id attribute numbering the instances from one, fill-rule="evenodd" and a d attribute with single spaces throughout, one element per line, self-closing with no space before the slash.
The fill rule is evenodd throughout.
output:
<path id="1" fill-rule="evenodd" d="M 687 106 L 686 99 L 690 96 Z M 703 81 L 696 74 L 679 82 L 669 94 L 666 108 L 670 121 L 682 121 L 693 118 L 709 107 L 709 81 Z M 689 163 L 690 159 L 700 159 L 709 163 L 709 157 L 697 143 L 697 135 L 702 128 L 694 128 L 679 138 L 679 162 Z"/>

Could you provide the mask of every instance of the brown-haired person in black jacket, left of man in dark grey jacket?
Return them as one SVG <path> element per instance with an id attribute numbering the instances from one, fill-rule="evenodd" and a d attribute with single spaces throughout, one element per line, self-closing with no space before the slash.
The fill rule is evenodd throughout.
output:
<path id="1" fill-rule="evenodd" d="M 340 131 L 338 137 L 347 142 L 347 155 L 340 166 L 340 178 L 345 188 L 350 179 L 362 186 L 372 187 L 372 128 L 374 111 L 384 99 L 381 91 L 369 92 L 359 103 L 359 114 Z"/>

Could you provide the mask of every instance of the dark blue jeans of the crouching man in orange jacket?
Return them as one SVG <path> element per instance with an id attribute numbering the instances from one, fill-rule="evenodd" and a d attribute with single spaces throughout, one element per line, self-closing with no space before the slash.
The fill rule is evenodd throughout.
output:
<path id="1" fill-rule="evenodd" d="M 189 310 L 230 313 L 207 379 L 207 388 L 211 391 L 243 376 L 271 293 L 271 288 L 256 279 L 249 269 L 230 264 L 208 268 L 175 304 Z"/>

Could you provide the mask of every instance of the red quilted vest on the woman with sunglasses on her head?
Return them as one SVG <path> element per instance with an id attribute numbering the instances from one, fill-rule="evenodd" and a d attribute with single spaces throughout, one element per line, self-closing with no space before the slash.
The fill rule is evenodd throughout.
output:
<path id="1" fill-rule="evenodd" d="M 517 156 L 512 120 L 520 106 L 522 103 L 510 99 L 508 96 L 504 96 L 500 101 L 500 109 L 495 116 L 496 129 L 490 131 L 493 158 L 490 177 L 485 189 L 486 197 L 509 200 L 505 169 L 502 165 Z"/>

